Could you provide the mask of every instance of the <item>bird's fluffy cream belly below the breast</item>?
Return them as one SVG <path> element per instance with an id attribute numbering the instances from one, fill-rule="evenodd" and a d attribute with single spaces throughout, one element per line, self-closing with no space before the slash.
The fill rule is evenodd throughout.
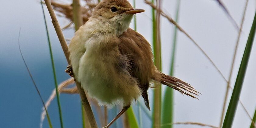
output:
<path id="1" fill-rule="evenodd" d="M 80 59 L 78 79 L 88 94 L 101 105 L 112 106 L 140 96 L 137 83 L 132 83 L 120 75 L 113 62 L 116 62 L 113 56 L 102 58 L 87 53 Z M 124 101 L 125 99 L 128 101 Z"/>

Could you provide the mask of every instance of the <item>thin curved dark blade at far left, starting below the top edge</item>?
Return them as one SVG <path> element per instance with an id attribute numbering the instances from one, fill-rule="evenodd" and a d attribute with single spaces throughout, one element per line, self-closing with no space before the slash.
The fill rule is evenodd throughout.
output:
<path id="1" fill-rule="evenodd" d="M 45 109 L 45 112 L 46 112 L 46 117 L 47 117 L 47 120 L 48 120 L 49 127 L 52 128 L 52 122 L 51 122 L 49 113 L 48 113 L 48 111 L 47 111 L 47 108 L 46 108 L 46 106 L 45 106 L 45 104 L 44 104 L 44 100 L 43 100 L 43 98 L 42 98 L 42 96 L 41 96 L 41 93 L 40 93 L 40 91 L 39 91 L 39 89 L 38 89 L 38 87 L 37 87 L 37 85 L 36 85 L 36 82 L 34 81 L 34 79 L 33 79 L 33 77 L 32 77 L 32 74 L 30 73 L 30 70 L 29 70 L 29 68 L 28 68 L 28 66 L 27 66 L 27 63 L 26 63 L 26 61 L 25 61 L 25 59 L 24 59 L 24 57 L 23 57 L 23 54 L 22 54 L 22 52 L 21 52 L 21 49 L 20 49 L 20 31 L 19 31 L 18 43 L 19 43 L 20 55 L 21 55 L 21 57 L 22 57 L 22 60 L 23 60 L 23 62 L 24 62 L 24 64 L 25 64 L 26 68 L 27 68 L 27 71 L 28 71 L 28 73 L 29 73 L 29 76 L 30 76 L 30 78 L 31 78 L 31 80 L 32 80 L 32 82 L 33 82 L 33 84 L 34 84 L 34 87 L 35 87 L 36 90 L 37 90 L 37 94 L 39 95 L 40 100 L 41 100 L 41 102 L 42 102 L 43 105 L 44 105 L 44 109 Z M 42 126 L 42 124 L 41 124 L 41 126 Z"/>

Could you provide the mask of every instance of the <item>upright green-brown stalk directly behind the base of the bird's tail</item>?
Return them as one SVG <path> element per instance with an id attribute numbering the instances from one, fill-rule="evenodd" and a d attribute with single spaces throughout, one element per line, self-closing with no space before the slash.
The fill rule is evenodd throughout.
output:
<path id="1" fill-rule="evenodd" d="M 152 3 L 154 0 L 152 0 Z M 161 8 L 161 0 L 156 1 L 157 7 Z M 162 70 L 161 63 L 161 41 L 160 41 L 160 11 L 157 10 L 155 16 L 155 9 L 152 8 L 152 22 L 153 22 L 153 53 L 154 53 L 154 63 L 158 70 Z M 153 120 L 152 126 L 153 128 L 161 127 L 161 98 L 162 98 L 162 90 L 161 84 L 155 84 L 154 90 L 154 108 L 153 108 Z"/>

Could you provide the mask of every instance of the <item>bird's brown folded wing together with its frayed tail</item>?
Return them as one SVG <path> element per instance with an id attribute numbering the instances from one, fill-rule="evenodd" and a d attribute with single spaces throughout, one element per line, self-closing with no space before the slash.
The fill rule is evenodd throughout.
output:
<path id="1" fill-rule="evenodd" d="M 153 62 L 153 54 L 148 41 L 138 32 L 128 28 L 120 37 L 119 51 L 122 55 L 127 55 L 129 59 L 130 74 L 139 82 L 139 87 L 144 98 L 145 105 L 149 107 L 148 89 L 151 79 L 155 82 L 172 87 L 192 98 L 196 98 L 198 92 L 182 80 L 173 76 L 165 75 L 156 69 Z M 154 82 L 153 81 L 153 82 Z"/>

